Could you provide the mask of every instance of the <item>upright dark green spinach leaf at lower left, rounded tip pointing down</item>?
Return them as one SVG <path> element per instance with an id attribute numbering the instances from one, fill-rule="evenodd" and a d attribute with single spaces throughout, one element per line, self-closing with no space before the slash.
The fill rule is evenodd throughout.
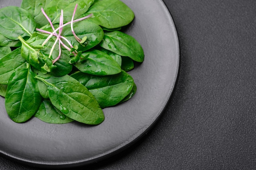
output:
<path id="1" fill-rule="evenodd" d="M 5 95 L 5 109 L 14 122 L 29 120 L 41 104 L 37 80 L 29 68 L 11 74 Z"/>

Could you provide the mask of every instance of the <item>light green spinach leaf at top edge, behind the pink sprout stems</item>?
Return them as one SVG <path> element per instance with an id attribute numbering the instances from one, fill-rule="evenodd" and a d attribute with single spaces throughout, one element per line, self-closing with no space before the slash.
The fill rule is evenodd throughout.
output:
<path id="1" fill-rule="evenodd" d="M 66 23 L 71 21 L 76 4 L 78 4 L 78 7 L 74 18 L 77 18 L 85 13 L 93 2 L 94 0 L 46 0 L 45 4 L 42 3 L 42 6 L 45 5 L 44 11 L 53 23 L 59 22 L 61 9 L 63 9 L 63 20 L 64 23 Z M 37 2 L 37 0 L 31 0 L 29 3 L 40 4 L 39 1 Z M 38 8 L 34 9 L 34 13 L 39 13 Z M 40 26 L 45 26 L 48 24 L 48 21 L 45 19 L 45 16 L 42 13 L 36 15 L 35 20 L 40 24 Z"/>

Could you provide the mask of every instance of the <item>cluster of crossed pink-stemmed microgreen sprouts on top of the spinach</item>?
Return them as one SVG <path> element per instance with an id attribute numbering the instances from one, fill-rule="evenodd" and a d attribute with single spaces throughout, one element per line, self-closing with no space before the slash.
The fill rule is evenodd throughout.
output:
<path id="1" fill-rule="evenodd" d="M 77 20 L 74 20 L 74 15 L 75 15 L 75 13 L 76 13 L 77 5 L 78 5 L 78 4 L 76 4 L 76 6 L 75 6 L 75 8 L 74 8 L 74 12 L 73 12 L 73 15 L 72 15 L 72 20 L 71 20 L 70 22 L 65 23 L 65 24 L 64 24 L 64 22 L 63 22 L 63 10 L 61 10 L 60 21 L 59 21 L 59 27 L 56 28 L 56 29 L 54 28 L 54 26 L 53 26 L 53 24 L 52 24 L 52 21 L 50 20 L 50 18 L 48 17 L 48 15 L 45 13 L 45 11 L 43 10 L 43 8 L 41 8 L 41 11 L 42 11 L 43 15 L 46 17 L 47 21 L 49 22 L 49 24 L 50 24 L 50 26 L 52 27 L 52 30 L 53 30 L 53 32 L 49 32 L 49 31 L 44 31 L 44 30 L 41 30 L 41 29 L 36 28 L 37 31 L 40 31 L 40 32 L 42 32 L 42 33 L 47 33 L 47 34 L 49 34 L 49 36 L 47 37 L 47 39 L 45 39 L 45 41 L 43 42 L 43 44 L 42 44 L 41 46 L 42 46 L 42 47 L 45 46 L 45 44 L 49 41 L 49 39 L 50 39 L 52 36 L 56 36 L 56 40 L 55 40 L 55 42 L 54 42 L 54 44 L 53 44 L 53 46 L 52 46 L 52 48 L 51 48 L 51 50 L 50 50 L 50 53 L 49 53 L 49 59 L 51 59 L 52 53 L 54 52 L 54 48 L 55 48 L 55 46 L 56 46 L 57 43 L 58 43 L 58 48 L 59 48 L 58 57 L 56 57 L 56 59 L 54 59 L 54 60 L 52 61 L 52 64 L 54 64 L 56 61 L 58 61 L 58 59 L 60 59 L 60 57 L 61 57 L 61 45 L 62 45 L 64 48 L 66 48 L 68 51 L 70 51 L 72 54 L 74 54 L 74 58 L 71 59 L 72 61 L 70 60 L 71 63 L 77 62 L 77 61 L 79 61 L 79 58 L 83 57 L 83 56 L 81 55 L 81 52 L 77 52 L 78 46 L 73 47 L 72 44 L 70 43 L 70 41 L 68 41 L 67 38 L 61 36 L 61 32 L 62 32 L 62 30 L 63 30 L 63 27 L 64 27 L 64 26 L 67 26 L 68 24 L 71 24 L 71 30 L 72 30 L 72 33 L 73 33 L 75 39 L 76 39 L 77 41 L 79 41 L 79 43 L 80 43 L 81 45 L 85 46 L 85 41 L 86 41 L 87 37 L 85 36 L 85 37 L 83 37 L 82 39 L 80 39 L 80 38 L 76 35 L 76 33 L 74 32 L 73 23 L 74 23 L 74 22 L 79 22 L 79 21 L 85 20 L 85 19 L 91 17 L 92 14 L 90 14 L 90 15 L 88 15 L 88 16 L 85 16 L 85 17 L 82 17 L 82 18 L 79 18 L 79 19 L 77 19 Z M 57 34 L 57 31 L 58 31 L 58 34 Z M 64 39 L 70 47 L 66 46 L 66 45 L 63 43 L 63 41 L 62 41 L 61 39 Z M 47 68 L 47 66 L 51 66 L 51 65 L 49 65 L 49 60 L 47 60 L 47 63 L 45 63 L 44 68 Z"/>

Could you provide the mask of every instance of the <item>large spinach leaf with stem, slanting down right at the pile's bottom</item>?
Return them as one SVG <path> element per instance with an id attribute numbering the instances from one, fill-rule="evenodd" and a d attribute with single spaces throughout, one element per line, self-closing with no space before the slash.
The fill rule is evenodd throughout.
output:
<path id="1" fill-rule="evenodd" d="M 103 111 L 97 100 L 76 79 L 68 75 L 36 78 L 47 85 L 52 104 L 65 116 L 85 124 L 103 122 Z"/>

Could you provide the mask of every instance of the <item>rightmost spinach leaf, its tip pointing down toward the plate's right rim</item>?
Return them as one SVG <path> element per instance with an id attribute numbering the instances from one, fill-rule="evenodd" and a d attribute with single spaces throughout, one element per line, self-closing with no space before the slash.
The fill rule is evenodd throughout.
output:
<path id="1" fill-rule="evenodd" d="M 137 62 L 144 60 L 144 51 L 138 41 L 126 33 L 112 31 L 105 33 L 99 44 L 101 47 L 115 52 L 121 56 L 127 56 Z"/>

